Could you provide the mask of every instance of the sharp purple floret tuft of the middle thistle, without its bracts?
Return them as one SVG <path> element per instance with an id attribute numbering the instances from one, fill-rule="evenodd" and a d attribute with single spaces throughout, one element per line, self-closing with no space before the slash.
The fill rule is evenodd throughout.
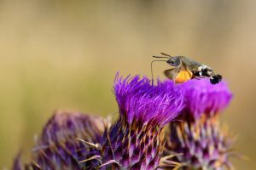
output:
<path id="1" fill-rule="evenodd" d="M 134 121 L 164 126 L 183 109 L 183 92 L 171 81 L 154 86 L 147 77 L 119 77 L 114 82 L 119 114 L 131 124 Z"/>

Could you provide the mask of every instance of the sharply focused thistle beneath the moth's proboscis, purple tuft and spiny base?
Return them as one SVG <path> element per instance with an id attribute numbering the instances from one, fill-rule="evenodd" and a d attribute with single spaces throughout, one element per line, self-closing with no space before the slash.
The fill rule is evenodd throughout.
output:
<path id="1" fill-rule="evenodd" d="M 183 109 L 183 92 L 171 81 L 153 86 L 147 77 L 117 76 L 114 94 L 119 119 L 103 135 L 102 169 L 156 169 L 163 127 Z"/>

